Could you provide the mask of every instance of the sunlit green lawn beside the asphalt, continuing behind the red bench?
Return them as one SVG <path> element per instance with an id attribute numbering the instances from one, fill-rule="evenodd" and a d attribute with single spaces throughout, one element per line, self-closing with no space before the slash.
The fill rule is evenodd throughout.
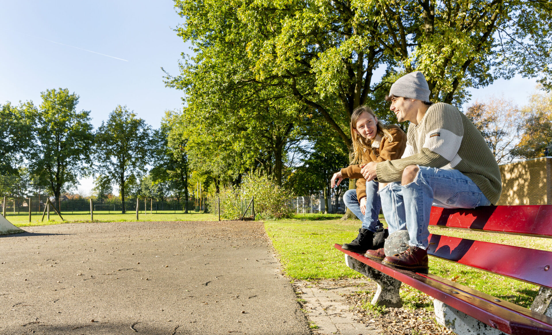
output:
<path id="1" fill-rule="evenodd" d="M 280 254 L 280 261 L 285 273 L 291 278 L 316 280 L 362 277 L 358 272 L 347 267 L 344 263 L 343 253 L 333 247 L 334 243 L 347 243 L 357 236 L 360 227 L 358 220 L 342 221 L 328 216 L 326 219 L 314 220 L 267 221 L 265 227 L 274 247 Z M 548 238 L 440 227 L 430 227 L 430 231 L 440 235 L 552 251 L 552 240 Z M 429 272 L 524 307 L 529 307 L 532 304 L 539 289 L 538 286 L 522 281 L 434 257 L 429 258 Z M 423 298 L 420 294 L 419 291 L 411 288 L 402 290 L 401 295 L 405 306 L 414 308 L 432 305 L 431 301 Z"/>

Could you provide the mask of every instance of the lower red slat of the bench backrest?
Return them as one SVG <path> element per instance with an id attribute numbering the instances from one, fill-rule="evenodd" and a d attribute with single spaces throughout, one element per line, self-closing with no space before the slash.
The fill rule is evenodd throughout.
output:
<path id="1" fill-rule="evenodd" d="M 550 251 L 437 234 L 429 234 L 429 243 L 427 253 L 431 256 L 552 288 Z"/>

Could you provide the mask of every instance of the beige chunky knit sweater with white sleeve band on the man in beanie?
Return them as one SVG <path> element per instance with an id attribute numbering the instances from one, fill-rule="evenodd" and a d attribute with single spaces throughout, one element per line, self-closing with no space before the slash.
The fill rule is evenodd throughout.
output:
<path id="1" fill-rule="evenodd" d="M 399 182 L 409 165 L 457 169 L 496 204 L 502 192 L 500 170 L 481 132 L 449 104 L 431 105 L 418 125 L 410 124 L 404 155 L 376 165 L 377 180 Z"/>

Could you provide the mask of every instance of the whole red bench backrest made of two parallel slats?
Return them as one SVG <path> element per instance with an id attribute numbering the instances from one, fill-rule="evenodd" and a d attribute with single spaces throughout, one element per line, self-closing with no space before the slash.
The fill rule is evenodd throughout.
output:
<path id="1" fill-rule="evenodd" d="M 552 238 L 552 205 L 433 207 L 429 225 Z M 432 234 L 428 254 L 552 288 L 552 252 Z"/>

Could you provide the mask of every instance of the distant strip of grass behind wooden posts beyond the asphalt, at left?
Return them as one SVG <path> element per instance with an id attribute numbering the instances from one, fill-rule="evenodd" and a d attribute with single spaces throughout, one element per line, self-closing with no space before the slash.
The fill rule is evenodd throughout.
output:
<path id="1" fill-rule="evenodd" d="M 13 225 L 18 227 L 26 226 L 45 226 L 45 225 L 58 225 L 65 222 L 91 222 L 90 214 L 88 212 L 62 212 L 63 221 L 55 213 L 50 212 L 50 221 L 40 221 L 42 214 L 32 214 L 31 222 L 29 222 L 29 214 L 9 214 L 7 213 L 6 219 L 9 222 L 12 222 Z M 213 214 L 204 214 L 189 212 L 189 214 L 184 214 L 183 212 L 174 212 L 174 211 L 164 211 L 164 212 L 153 212 L 153 214 L 148 213 L 144 215 L 142 211 L 139 214 L 139 220 L 137 221 L 215 221 L 219 218 Z M 107 212 L 94 212 L 94 222 L 126 222 L 126 221 L 136 221 L 136 212 L 130 212 L 127 214 L 107 214 Z"/>

